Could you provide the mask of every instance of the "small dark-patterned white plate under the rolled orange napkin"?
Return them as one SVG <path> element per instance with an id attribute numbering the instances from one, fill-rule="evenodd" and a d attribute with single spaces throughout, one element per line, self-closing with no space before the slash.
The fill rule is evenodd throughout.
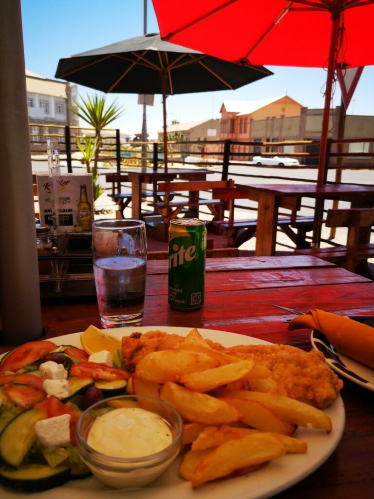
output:
<path id="1" fill-rule="evenodd" d="M 373 316 L 352 316 L 350 318 L 368 325 L 374 323 Z M 336 373 L 374 392 L 374 369 L 340 353 L 319 331 L 313 329 L 310 340 L 313 348 L 324 354 L 326 362 Z"/>

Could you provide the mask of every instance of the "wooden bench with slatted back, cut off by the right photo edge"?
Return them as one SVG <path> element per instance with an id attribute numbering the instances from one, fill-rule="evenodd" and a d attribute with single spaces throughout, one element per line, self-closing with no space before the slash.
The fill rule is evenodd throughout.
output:
<path id="1" fill-rule="evenodd" d="M 311 254 L 318 258 L 337 263 L 351 272 L 362 273 L 358 267 L 363 260 L 374 257 L 374 244 L 362 243 L 360 239 L 362 238 L 361 233 L 362 229 L 366 228 L 365 239 L 368 239 L 370 237 L 370 228 L 373 225 L 373 208 L 328 210 L 326 227 L 348 227 L 347 245 L 297 250 L 295 253 Z"/>

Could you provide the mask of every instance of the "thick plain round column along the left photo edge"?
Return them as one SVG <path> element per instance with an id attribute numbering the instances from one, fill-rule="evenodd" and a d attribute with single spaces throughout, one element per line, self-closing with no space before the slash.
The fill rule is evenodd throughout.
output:
<path id="1" fill-rule="evenodd" d="M 1 341 L 42 334 L 20 0 L 0 1 Z"/>

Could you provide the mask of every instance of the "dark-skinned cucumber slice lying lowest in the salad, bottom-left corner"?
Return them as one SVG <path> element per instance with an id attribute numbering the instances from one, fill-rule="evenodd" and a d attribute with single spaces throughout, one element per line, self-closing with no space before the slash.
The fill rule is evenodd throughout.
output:
<path id="1" fill-rule="evenodd" d="M 23 492 L 42 492 L 53 487 L 58 487 L 69 480 L 70 468 L 30 464 L 20 466 L 17 470 L 2 466 L 0 468 L 0 483 Z"/>

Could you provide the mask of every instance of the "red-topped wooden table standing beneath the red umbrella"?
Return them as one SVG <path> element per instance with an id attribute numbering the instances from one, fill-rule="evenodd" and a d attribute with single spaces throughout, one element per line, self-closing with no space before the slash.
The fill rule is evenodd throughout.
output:
<path id="1" fill-rule="evenodd" d="M 316 199 L 313 244 L 320 240 L 323 204 L 326 199 L 348 201 L 352 208 L 372 208 L 374 187 L 351 184 L 236 184 L 246 189 L 248 198 L 258 201 L 256 250 L 257 256 L 275 254 L 278 208 L 294 201 L 300 206 L 301 198 Z M 367 238 L 368 239 L 368 238 Z M 362 243 L 369 242 L 362 241 Z"/>

